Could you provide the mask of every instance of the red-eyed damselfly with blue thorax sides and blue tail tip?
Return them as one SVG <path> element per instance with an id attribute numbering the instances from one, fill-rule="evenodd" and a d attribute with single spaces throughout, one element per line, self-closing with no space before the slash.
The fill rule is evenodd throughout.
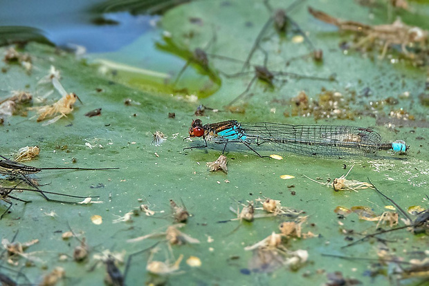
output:
<path id="1" fill-rule="evenodd" d="M 197 119 L 192 121 L 189 137 L 203 137 L 205 144 L 185 149 L 206 148 L 207 141 L 212 141 L 224 145 L 223 153 L 229 142 L 238 142 L 259 157 L 265 156 L 259 155 L 250 144 L 274 144 L 289 152 L 333 159 L 370 155 L 378 150 L 404 153 L 409 149 L 403 141 L 383 143 L 376 131 L 356 126 L 241 123 L 236 120 L 203 125 Z"/>

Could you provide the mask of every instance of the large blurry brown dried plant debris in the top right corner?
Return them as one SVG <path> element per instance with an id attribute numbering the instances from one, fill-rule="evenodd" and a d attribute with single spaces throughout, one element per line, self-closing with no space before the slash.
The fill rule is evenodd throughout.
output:
<path id="1" fill-rule="evenodd" d="M 334 18 L 325 12 L 314 10 L 311 7 L 309 7 L 309 12 L 320 21 L 338 26 L 340 30 L 358 32 L 360 35 L 363 35 L 362 39 L 355 45 L 356 48 L 367 46 L 376 40 L 380 41 L 383 45 L 381 59 L 385 57 L 387 49 L 392 45 L 401 45 L 402 53 L 407 57 L 413 57 L 407 50 L 407 47 L 415 46 L 415 44 L 424 45 L 428 39 L 427 30 L 423 30 L 417 26 L 405 25 L 399 18 L 392 24 L 370 26 L 356 21 Z"/>

